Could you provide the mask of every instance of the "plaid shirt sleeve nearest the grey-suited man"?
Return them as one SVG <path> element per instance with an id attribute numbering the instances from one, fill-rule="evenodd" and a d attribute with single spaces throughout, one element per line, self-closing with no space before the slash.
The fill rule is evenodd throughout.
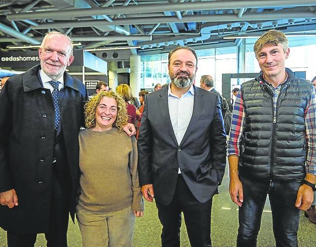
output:
<path id="1" fill-rule="evenodd" d="M 245 111 L 242 99 L 242 90 L 239 90 L 235 103 L 233 105 L 233 116 L 231 124 L 231 132 L 227 145 L 226 155 L 239 155 L 239 143 L 244 131 Z"/>

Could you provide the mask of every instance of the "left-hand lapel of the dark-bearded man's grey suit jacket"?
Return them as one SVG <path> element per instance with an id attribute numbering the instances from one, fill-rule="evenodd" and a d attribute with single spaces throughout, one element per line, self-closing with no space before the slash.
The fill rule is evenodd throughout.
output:
<path id="1" fill-rule="evenodd" d="M 171 136 L 172 140 L 178 146 L 177 138 L 173 132 L 170 115 L 169 115 L 169 108 L 168 108 L 168 88 L 163 88 L 159 90 L 159 99 L 158 99 L 159 110 L 162 116 L 162 120 L 164 125 L 166 126 L 166 131 Z"/>

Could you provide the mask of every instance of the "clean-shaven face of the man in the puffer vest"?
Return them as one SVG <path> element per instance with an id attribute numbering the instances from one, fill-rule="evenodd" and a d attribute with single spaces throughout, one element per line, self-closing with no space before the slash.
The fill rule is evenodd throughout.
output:
<path id="1" fill-rule="evenodd" d="M 284 52 L 283 46 L 268 44 L 257 53 L 257 60 L 268 82 L 282 81 L 285 79 L 285 59 L 290 53 L 289 49 Z"/>

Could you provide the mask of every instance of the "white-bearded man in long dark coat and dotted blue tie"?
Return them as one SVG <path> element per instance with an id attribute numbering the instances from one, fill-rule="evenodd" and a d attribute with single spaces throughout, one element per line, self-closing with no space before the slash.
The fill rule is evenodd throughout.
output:
<path id="1" fill-rule="evenodd" d="M 0 227 L 8 247 L 67 247 L 79 186 L 78 133 L 85 86 L 66 73 L 72 41 L 48 33 L 40 65 L 11 77 L 0 93 Z"/>

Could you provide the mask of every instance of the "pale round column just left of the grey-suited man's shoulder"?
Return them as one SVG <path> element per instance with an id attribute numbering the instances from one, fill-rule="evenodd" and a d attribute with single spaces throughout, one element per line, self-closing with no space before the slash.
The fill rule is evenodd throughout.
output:
<path id="1" fill-rule="evenodd" d="M 131 66 L 131 73 L 130 73 L 130 86 L 133 91 L 133 96 L 137 97 L 141 87 L 141 61 L 139 55 L 132 55 L 130 57 L 130 66 Z"/>

